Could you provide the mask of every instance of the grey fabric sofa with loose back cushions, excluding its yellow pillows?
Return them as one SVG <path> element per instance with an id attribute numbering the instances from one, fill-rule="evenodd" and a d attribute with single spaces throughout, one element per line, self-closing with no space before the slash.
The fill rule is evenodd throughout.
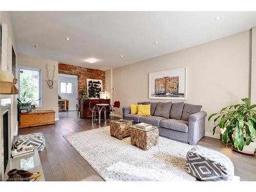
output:
<path id="1" fill-rule="evenodd" d="M 131 114 L 129 106 L 122 109 L 123 118 L 159 126 L 160 136 L 191 145 L 204 136 L 206 112 L 201 111 L 202 105 L 149 101 L 138 104 L 151 104 L 151 116 Z"/>

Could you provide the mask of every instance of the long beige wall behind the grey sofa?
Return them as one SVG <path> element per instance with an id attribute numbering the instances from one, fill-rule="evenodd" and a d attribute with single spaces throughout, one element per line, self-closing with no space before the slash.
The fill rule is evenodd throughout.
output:
<path id="1" fill-rule="evenodd" d="M 167 102 L 148 98 L 148 74 L 187 67 L 187 100 L 184 102 L 203 105 L 208 118 L 224 106 L 241 103 L 241 98 L 249 97 L 250 39 L 248 30 L 113 69 L 113 100 L 120 100 L 121 108 L 140 101 Z M 213 126 L 206 120 L 205 131 L 212 133 Z"/>

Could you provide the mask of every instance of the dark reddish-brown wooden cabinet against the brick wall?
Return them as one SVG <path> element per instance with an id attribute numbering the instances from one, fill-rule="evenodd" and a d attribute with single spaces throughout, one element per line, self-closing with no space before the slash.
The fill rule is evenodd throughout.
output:
<path id="1" fill-rule="evenodd" d="M 92 117 L 92 112 L 90 111 L 90 106 L 89 106 L 90 101 L 98 101 L 98 103 L 110 104 L 110 99 L 87 99 L 87 100 L 79 99 L 80 117 L 83 119 Z M 106 115 L 108 116 L 109 114 L 110 113 L 107 112 Z M 101 115 L 104 115 L 104 111 L 102 111 Z"/>

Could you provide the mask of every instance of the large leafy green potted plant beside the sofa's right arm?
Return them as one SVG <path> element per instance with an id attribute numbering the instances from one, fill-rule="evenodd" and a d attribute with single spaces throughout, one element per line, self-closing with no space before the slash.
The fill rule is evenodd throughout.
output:
<path id="1" fill-rule="evenodd" d="M 216 127 L 221 130 L 221 140 L 237 152 L 253 155 L 255 153 L 256 142 L 256 104 L 250 104 L 250 99 L 242 99 L 244 103 L 226 106 L 219 113 L 211 114 L 208 121 L 214 116 L 214 123 L 219 119 L 219 123 L 213 129 L 215 134 Z"/>

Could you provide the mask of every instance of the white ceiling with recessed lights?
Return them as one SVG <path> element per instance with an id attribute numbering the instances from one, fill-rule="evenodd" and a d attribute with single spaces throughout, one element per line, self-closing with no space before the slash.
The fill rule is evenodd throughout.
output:
<path id="1" fill-rule="evenodd" d="M 222 18 L 216 21 L 216 16 Z M 18 53 L 101 70 L 256 26 L 256 12 L 14 11 L 12 19 Z M 86 62 L 90 57 L 99 60 Z"/>

